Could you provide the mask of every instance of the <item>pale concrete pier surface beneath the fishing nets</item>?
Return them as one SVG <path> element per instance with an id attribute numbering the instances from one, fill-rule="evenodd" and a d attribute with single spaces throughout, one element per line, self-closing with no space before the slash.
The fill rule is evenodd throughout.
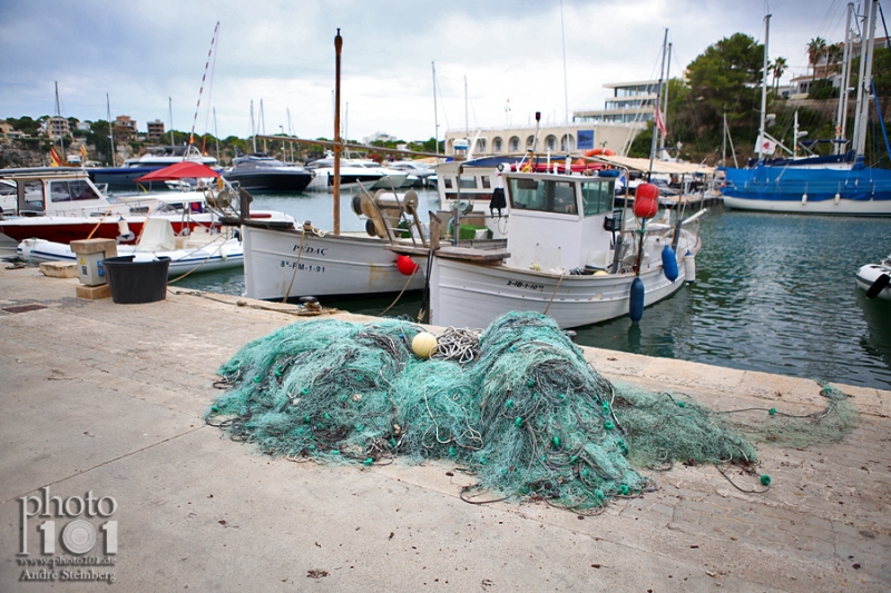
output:
<path id="1" fill-rule="evenodd" d="M 843 443 L 760 446 L 765 494 L 678 465 L 597 517 L 474 506 L 447 463 L 292 463 L 204 424 L 218 366 L 300 322 L 293 307 L 175 288 L 115 305 L 76 286 L 0 268 L 0 591 L 891 590 L 890 392 L 836 385 L 860 412 Z M 713 408 L 823 405 L 812 380 L 585 352 L 610 379 Z M 96 564 L 40 564 L 74 559 Z"/>

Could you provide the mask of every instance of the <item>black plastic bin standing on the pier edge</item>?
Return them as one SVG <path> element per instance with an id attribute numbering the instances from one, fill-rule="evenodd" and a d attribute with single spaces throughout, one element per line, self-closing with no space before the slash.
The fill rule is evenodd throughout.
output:
<path id="1" fill-rule="evenodd" d="M 119 305 L 156 303 L 167 297 L 167 270 L 169 257 L 155 261 L 134 261 L 126 255 L 102 259 L 111 300 Z"/>

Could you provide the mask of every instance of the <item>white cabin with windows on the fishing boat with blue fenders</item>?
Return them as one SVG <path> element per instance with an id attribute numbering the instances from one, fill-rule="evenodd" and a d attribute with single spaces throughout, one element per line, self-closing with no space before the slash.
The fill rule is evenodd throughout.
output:
<path id="1" fill-rule="evenodd" d="M 511 213 L 507 266 L 565 274 L 608 267 L 617 226 L 614 177 L 521 172 L 505 177 Z"/>

